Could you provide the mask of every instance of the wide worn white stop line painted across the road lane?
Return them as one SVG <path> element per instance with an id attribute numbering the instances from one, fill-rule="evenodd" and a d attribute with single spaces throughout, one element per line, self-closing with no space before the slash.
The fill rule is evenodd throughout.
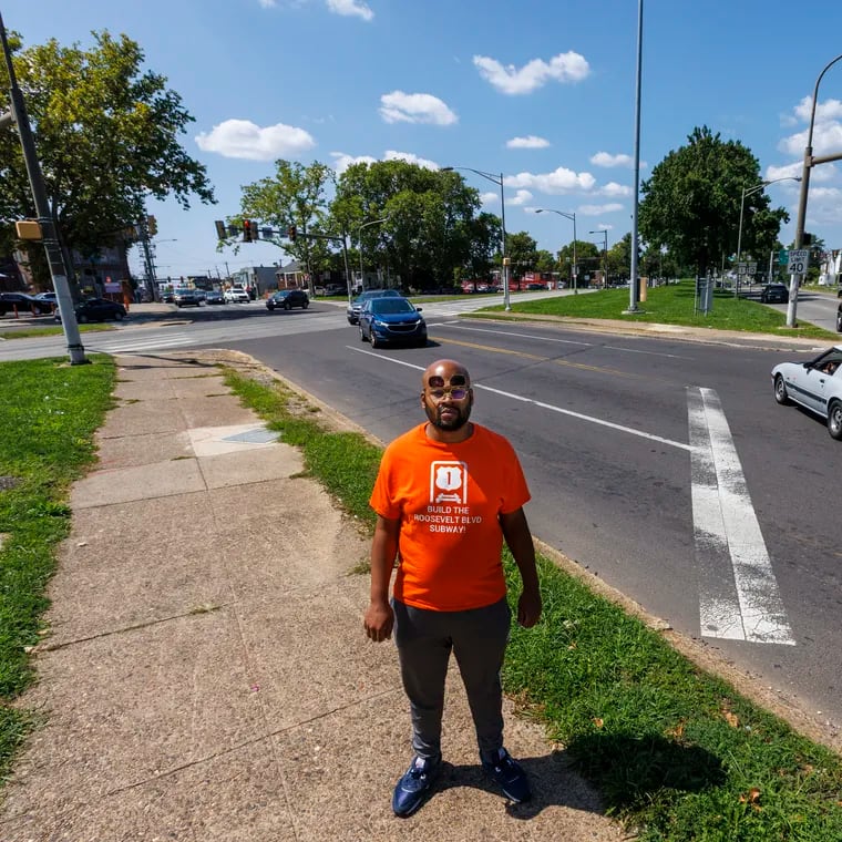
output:
<path id="1" fill-rule="evenodd" d="M 701 634 L 794 646 L 719 397 L 689 387 L 687 411 Z"/>

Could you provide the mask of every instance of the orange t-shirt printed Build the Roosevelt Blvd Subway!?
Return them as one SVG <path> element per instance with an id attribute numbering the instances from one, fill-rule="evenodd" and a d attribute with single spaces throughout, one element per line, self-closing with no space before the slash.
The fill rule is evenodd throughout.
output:
<path id="1" fill-rule="evenodd" d="M 394 597 L 440 612 L 493 605 L 506 593 L 497 517 L 530 499 L 521 463 L 479 424 L 454 444 L 431 441 L 425 428 L 386 449 L 371 493 L 379 515 L 401 522 Z"/>

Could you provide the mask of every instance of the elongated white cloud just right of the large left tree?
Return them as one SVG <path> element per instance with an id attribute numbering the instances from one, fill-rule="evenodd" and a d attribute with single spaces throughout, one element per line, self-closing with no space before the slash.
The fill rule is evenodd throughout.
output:
<path id="1" fill-rule="evenodd" d="M 203 152 L 224 157 L 274 161 L 311 150 L 316 141 L 304 129 L 284 123 L 261 129 L 249 120 L 225 120 L 210 132 L 197 134 L 196 144 Z"/>

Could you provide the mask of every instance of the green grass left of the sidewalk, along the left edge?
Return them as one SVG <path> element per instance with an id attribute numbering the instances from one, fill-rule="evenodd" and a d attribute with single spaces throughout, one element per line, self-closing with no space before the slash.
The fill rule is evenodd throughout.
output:
<path id="1" fill-rule="evenodd" d="M 70 484 L 94 462 L 114 364 L 0 363 L 0 778 L 33 721 L 11 702 L 32 680 L 55 547 L 70 531 Z"/>

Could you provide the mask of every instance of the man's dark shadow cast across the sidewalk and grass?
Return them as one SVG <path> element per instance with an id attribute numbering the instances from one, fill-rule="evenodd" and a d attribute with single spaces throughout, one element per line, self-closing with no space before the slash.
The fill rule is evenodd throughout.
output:
<path id="1" fill-rule="evenodd" d="M 664 790 L 699 792 L 720 784 L 725 771 L 719 759 L 696 746 L 682 746 L 651 735 L 585 735 L 559 751 L 518 758 L 532 788 L 532 800 L 506 803 L 515 819 L 536 817 L 547 807 L 567 807 L 594 813 L 628 808 Z M 455 787 L 502 795 L 475 766 L 442 763 L 435 792 Z"/>

